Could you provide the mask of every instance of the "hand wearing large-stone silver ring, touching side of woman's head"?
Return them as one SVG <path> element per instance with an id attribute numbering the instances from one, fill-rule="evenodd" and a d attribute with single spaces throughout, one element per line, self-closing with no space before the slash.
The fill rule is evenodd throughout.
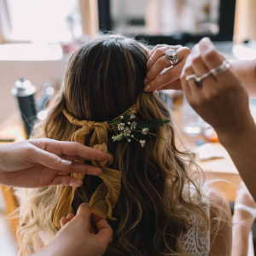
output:
<path id="1" fill-rule="evenodd" d="M 171 67 L 171 62 L 166 58 L 165 52 L 168 49 L 176 49 L 178 62 Z M 145 80 L 145 91 L 181 89 L 180 74 L 190 49 L 182 46 L 170 46 L 166 44 L 156 45 L 148 55 L 148 74 Z"/>

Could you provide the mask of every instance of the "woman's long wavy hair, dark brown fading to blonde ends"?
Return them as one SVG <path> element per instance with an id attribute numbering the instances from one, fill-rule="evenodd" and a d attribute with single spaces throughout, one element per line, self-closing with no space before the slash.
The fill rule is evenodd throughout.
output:
<path id="1" fill-rule="evenodd" d="M 102 122 L 136 104 L 142 119 L 171 119 L 156 93 L 143 93 L 147 61 L 147 47 L 131 38 L 105 36 L 84 44 L 71 57 L 60 94 L 36 135 L 69 141 L 79 126 L 69 123 L 64 109 L 76 119 Z M 160 126 L 156 135 L 142 148 L 139 143 L 113 143 L 109 133 L 112 167 L 122 176 L 113 209 L 116 220 L 110 221 L 113 241 L 104 255 L 184 255 L 180 241 L 189 229 L 189 217 L 209 224 L 201 189 L 190 176 L 190 156 L 177 149 L 172 122 Z M 84 144 L 89 141 L 90 134 Z M 98 183 L 98 177 L 84 177 L 74 196 L 73 212 Z M 35 251 L 33 240 L 39 231 L 52 235 L 57 231 L 52 217 L 61 189 L 27 190 L 20 207 L 21 255 Z"/>

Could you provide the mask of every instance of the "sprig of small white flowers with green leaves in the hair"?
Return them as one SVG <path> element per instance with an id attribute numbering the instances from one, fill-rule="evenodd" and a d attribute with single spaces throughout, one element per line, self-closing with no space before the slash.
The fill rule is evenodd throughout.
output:
<path id="1" fill-rule="evenodd" d="M 134 108 L 129 108 L 119 117 L 108 122 L 110 129 L 113 131 L 113 142 L 132 141 L 140 143 L 142 148 L 145 146 L 149 137 L 157 137 L 155 131 L 161 125 L 169 123 L 168 119 L 154 119 L 153 121 L 137 118 L 137 112 Z"/>

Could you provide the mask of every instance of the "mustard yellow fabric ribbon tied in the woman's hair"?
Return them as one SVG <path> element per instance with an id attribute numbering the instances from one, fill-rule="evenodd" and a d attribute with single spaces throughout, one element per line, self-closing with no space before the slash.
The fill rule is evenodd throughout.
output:
<path id="1" fill-rule="evenodd" d="M 84 144 L 85 137 L 93 131 L 90 137 L 90 146 L 108 153 L 108 122 L 100 123 L 75 119 L 66 110 L 63 110 L 63 114 L 71 124 L 81 126 L 80 129 L 73 133 L 71 141 Z M 102 168 L 102 173 L 99 175 L 102 178 L 102 183 L 91 195 L 89 206 L 92 212 L 95 212 L 100 217 L 113 219 L 113 208 L 119 200 L 121 172 L 108 168 L 108 161 L 93 161 L 92 164 Z M 84 178 L 84 174 L 73 173 L 72 175 L 73 177 Z M 63 187 L 61 189 L 61 196 L 53 213 L 53 224 L 57 230 L 61 228 L 61 218 L 65 218 L 69 212 L 72 212 L 75 191 L 76 189 L 72 187 Z"/>

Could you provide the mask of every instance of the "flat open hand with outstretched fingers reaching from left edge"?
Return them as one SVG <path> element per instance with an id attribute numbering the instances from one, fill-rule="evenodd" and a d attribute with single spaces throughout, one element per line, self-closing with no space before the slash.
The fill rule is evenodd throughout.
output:
<path id="1" fill-rule="evenodd" d="M 79 164 L 73 160 L 109 160 L 109 154 L 80 143 L 59 142 L 52 139 L 32 139 L 0 146 L 0 183 L 35 188 L 49 185 L 80 186 L 79 178 L 71 172 L 99 175 L 96 166 Z"/>

